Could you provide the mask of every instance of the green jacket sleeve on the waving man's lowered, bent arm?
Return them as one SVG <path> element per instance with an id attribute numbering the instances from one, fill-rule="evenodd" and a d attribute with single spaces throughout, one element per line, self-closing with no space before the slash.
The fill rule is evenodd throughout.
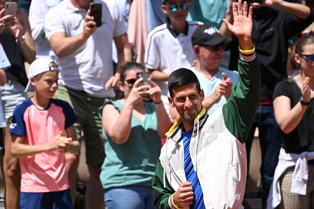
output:
<path id="1" fill-rule="evenodd" d="M 164 169 L 158 159 L 156 172 L 153 179 L 153 196 L 154 196 L 154 205 L 159 209 L 171 209 L 168 205 L 168 200 L 171 198 L 171 195 L 175 193 L 169 182 L 166 178 L 166 187 L 164 188 Z"/>

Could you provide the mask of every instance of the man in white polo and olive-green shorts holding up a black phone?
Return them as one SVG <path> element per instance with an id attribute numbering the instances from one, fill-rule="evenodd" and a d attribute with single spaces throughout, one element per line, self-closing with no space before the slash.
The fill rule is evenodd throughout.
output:
<path id="1" fill-rule="evenodd" d="M 101 4 L 101 21 L 96 27 L 91 3 Z M 91 8 L 91 9 L 89 9 Z M 99 13 L 98 13 L 99 14 Z M 64 0 L 45 16 L 45 34 L 60 64 L 56 99 L 70 103 L 78 116 L 78 141 L 84 133 L 89 180 L 86 208 L 104 208 L 104 190 L 99 175 L 105 159 L 98 108 L 105 98 L 115 97 L 119 74 L 113 75 L 112 39 L 118 52 L 118 67 L 131 60 L 122 14 L 112 0 Z M 51 53 L 53 55 L 53 53 Z M 78 155 L 68 159 L 68 172 L 76 175 Z"/>

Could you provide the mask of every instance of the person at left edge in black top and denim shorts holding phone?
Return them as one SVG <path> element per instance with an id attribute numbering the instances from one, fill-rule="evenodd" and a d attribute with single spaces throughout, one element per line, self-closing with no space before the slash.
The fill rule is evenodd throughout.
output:
<path id="1" fill-rule="evenodd" d="M 11 155 L 11 135 L 8 130 L 15 106 L 27 99 L 24 89 L 28 78 L 25 72 L 24 61 L 32 63 L 36 55 L 27 13 L 22 9 L 16 10 L 16 8 L 15 2 L 0 1 L 0 42 L 11 63 L 11 67 L 5 71 L 7 83 L 1 87 L 5 118 L 8 122 L 7 128 L 4 129 L 5 155 L 3 158 L 6 185 L 5 206 L 7 209 L 20 207 L 19 192 L 21 181 L 19 160 Z M 16 11 L 17 13 L 14 14 Z M 9 15 L 5 15 L 5 13 Z"/>

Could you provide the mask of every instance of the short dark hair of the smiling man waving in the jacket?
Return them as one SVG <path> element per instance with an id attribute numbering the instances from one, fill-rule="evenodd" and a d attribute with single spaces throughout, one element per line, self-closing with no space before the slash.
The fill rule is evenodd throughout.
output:
<path id="1" fill-rule="evenodd" d="M 198 93 L 201 93 L 201 85 L 199 84 L 198 78 L 195 73 L 186 68 L 180 68 L 176 71 L 173 71 L 168 78 L 168 90 L 170 93 L 170 97 L 173 98 L 173 89 L 178 86 L 182 86 L 185 84 L 195 83 Z"/>

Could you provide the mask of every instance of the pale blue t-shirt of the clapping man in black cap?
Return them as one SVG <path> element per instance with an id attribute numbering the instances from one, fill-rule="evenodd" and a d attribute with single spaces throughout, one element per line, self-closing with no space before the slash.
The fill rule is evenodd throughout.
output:
<path id="1" fill-rule="evenodd" d="M 194 67 L 190 68 L 190 70 L 193 71 L 198 78 L 201 89 L 203 89 L 204 91 L 205 98 L 214 93 L 216 87 L 219 85 L 219 83 L 222 82 L 221 73 L 227 74 L 227 77 L 231 79 L 232 87 L 236 85 L 239 80 L 239 75 L 237 71 L 230 71 L 222 67 L 218 68 L 218 72 L 213 76 L 210 81 L 203 75 L 203 73 L 196 71 Z M 213 114 L 219 107 L 223 106 L 225 103 L 227 103 L 226 97 L 222 96 L 219 102 L 209 108 L 208 115 Z"/>

